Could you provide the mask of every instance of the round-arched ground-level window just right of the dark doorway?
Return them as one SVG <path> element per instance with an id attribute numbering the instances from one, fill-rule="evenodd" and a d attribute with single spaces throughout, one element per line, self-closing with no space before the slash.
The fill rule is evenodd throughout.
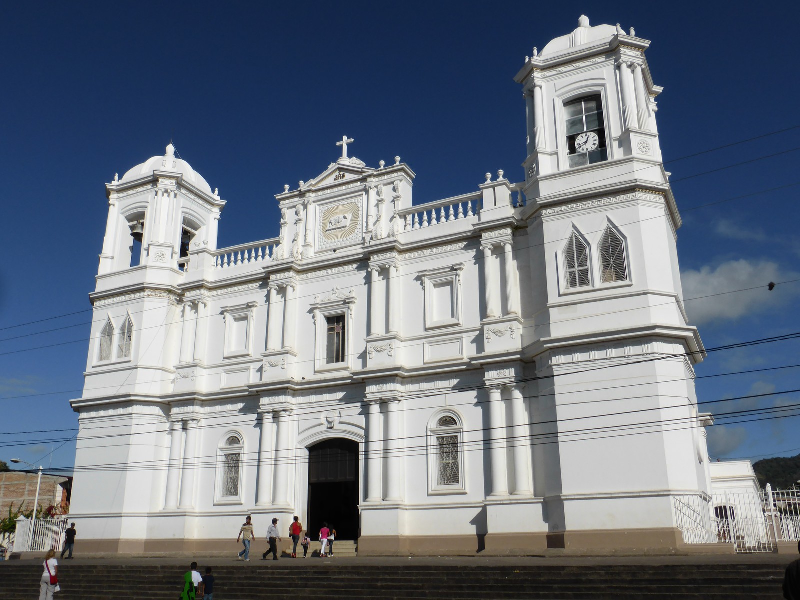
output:
<path id="1" fill-rule="evenodd" d="M 434 419 L 429 429 L 429 489 L 431 494 L 463 494 L 463 427 L 454 414 Z"/>

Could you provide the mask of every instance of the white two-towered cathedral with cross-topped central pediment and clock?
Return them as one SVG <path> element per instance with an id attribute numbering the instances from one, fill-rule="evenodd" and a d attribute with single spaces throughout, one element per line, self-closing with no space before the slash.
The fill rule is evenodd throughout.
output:
<path id="1" fill-rule="evenodd" d="M 82 551 L 232 549 L 246 514 L 359 554 L 680 548 L 710 417 L 649 45 L 582 17 L 526 58 L 522 182 L 414 205 L 342 138 L 230 248 L 173 146 L 107 184 Z"/>

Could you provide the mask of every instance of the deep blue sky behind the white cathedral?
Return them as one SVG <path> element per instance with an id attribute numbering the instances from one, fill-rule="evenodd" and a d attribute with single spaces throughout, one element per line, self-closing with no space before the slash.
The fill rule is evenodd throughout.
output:
<path id="1" fill-rule="evenodd" d="M 800 330 L 800 282 L 782 283 L 800 279 L 800 128 L 706 152 L 800 126 L 797 5 L 277 5 L 0 6 L 0 460 L 74 462 L 74 442 L 61 444 L 78 422 L 69 400 L 83 385 L 104 184 L 115 173 L 173 140 L 228 201 L 220 247 L 277 235 L 274 194 L 321 173 L 343 134 L 370 166 L 401 156 L 418 174 L 416 204 L 477 190 L 489 171 L 519 181 L 525 109 L 514 74 L 582 13 L 653 42 L 686 298 L 760 286 L 687 301 L 706 347 Z M 64 314 L 72 316 L 54 318 Z M 790 407 L 800 394 L 779 393 L 800 388 L 800 369 L 763 369 L 794 363 L 797 340 L 712 353 L 698 367 L 698 395 L 770 394 L 714 412 Z M 759 371 L 706 377 L 744 370 Z M 714 427 L 711 454 L 798 454 L 800 418 L 786 416 L 797 412 Z M 66 431 L 15 434 L 34 430 Z"/>

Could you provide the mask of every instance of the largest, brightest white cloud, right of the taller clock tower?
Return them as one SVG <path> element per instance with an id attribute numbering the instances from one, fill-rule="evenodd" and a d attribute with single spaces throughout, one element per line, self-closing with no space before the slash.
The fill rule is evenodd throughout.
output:
<path id="1" fill-rule="evenodd" d="M 778 285 L 771 292 L 767 290 L 770 282 L 798 279 L 800 273 L 782 270 L 777 262 L 765 260 L 742 258 L 723 262 L 715 268 L 703 266 L 700 270 L 686 270 L 681 276 L 686 313 L 694 325 L 774 310 L 797 298 L 800 290 L 798 283 Z"/>

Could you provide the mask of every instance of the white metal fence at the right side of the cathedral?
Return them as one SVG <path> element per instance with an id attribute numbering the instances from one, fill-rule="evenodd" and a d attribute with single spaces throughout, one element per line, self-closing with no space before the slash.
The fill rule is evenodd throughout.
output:
<path id="1" fill-rule="evenodd" d="M 800 541 L 800 490 L 728 492 L 709 501 L 675 496 L 674 514 L 686 544 L 733 544 L 736 552 L 772 552 L 776 542 Z"/>

